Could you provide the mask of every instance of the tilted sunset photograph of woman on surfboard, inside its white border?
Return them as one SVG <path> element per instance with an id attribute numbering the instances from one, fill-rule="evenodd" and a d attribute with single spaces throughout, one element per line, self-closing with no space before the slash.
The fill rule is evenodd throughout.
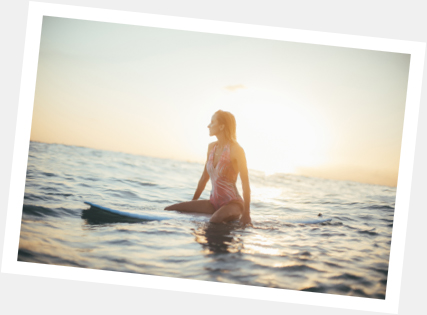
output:
<path id="1" fill-rule="evenodd" d="M 410 57 L 44 16 L 17 260 L 384 300 Z"/>

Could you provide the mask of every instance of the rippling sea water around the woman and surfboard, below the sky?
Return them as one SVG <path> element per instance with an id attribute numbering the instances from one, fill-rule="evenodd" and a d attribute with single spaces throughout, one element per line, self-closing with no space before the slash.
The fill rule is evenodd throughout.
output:
<path id="1" fill-rule="evenodd" d="M 249 170 L 252 227 L 164 211 L 192 198 L 202 171 L 198 163 L 31 142 L 18 260 L 385 298 L 395 188 Z M 201 199 L 209 192 L 210 184 Z M 127 219 L 84 201 L 172 218 Z M 318 213 L 332 221 L 293 221 Z"/>

